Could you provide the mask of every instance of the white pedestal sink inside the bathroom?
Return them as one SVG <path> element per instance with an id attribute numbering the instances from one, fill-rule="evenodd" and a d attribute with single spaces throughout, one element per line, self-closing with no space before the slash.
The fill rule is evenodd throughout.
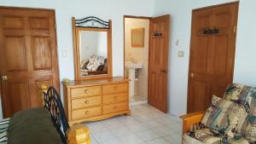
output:
<path id="1" fill-rule="evenodd" d="M 137 62 L 125 62 L 125 68 L 129 69 L 129 94 L 130 96 L 134 96 L 134 87 L 135 87 L 135 70 L 139 68 L 143 68 L 142 63 Z"/>

